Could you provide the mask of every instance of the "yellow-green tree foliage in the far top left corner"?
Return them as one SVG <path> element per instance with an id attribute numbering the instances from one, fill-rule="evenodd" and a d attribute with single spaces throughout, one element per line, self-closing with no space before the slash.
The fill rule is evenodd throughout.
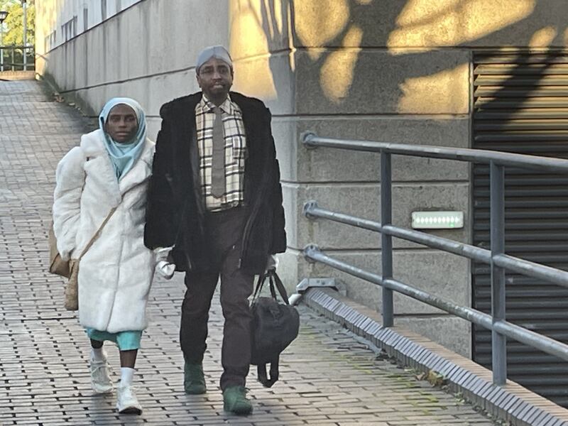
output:
<path id="1" fill-rule="evenodd" d="M 28 45 L 35 43 L 35 6 L 28 0 Z M 23 7 L 19 0 L 0 0 L 0 10 L 7 11 L 4 21 L 4 45 L 23 45 Z"/>

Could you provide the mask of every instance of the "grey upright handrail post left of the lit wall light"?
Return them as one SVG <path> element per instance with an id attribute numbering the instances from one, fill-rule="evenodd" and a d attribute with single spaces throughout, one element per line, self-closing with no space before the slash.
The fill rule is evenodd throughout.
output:
<path id="1" fill-rule="evenodd" d="M 393 218 L 393 188 L 391 154 L 381 151 L 381 226 L 390 225 Z M 383 280 L 393 278 L 393 237 L 381 232 L 381 263 Z M 393 290 L 383 287 L 383 326 L 393 327 Z"/>

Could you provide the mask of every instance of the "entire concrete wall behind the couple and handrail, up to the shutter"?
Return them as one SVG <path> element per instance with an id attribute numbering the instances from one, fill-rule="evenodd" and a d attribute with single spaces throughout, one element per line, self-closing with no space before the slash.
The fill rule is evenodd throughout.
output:
<path id="1" fill-rule="evenodd" d="M 154 136 L 160 104 L 197 89 L 199 50 L 228 45 L 234 88 L 265 100 L 273 112 L 289 238 L 280 271 L 290 289 L 307 276 L 334 276 L 350 297 L 380 310 L 380 288 L 301 256 L 316 243 L 381 270 L 378 235 L 301 214 L 307 200 L 317 200 L 379 219 L 378 157 L 307 151 L 300 134 L 469 147 L 473 50 L 562 47 L 567 12 L 564 0 L 143 0 L 45 53 L 38 70 L 90 114 L 109 97 L 135 97 Z M 470 242 L 470 178 L 467 164 L 395 157 L 393 222 L 410 227 L 413 211 L 460 210 L 464 229 L 432 233 Z M 395 278 L 471 304 L 464 259 L 395 241 L 394 263 Z M 395 314 L 397 322 L 469 355 L 469 323 L 398 296 Z"/>

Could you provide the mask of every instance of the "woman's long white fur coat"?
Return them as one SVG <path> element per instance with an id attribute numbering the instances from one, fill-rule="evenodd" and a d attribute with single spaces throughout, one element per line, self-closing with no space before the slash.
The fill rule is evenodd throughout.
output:
<path id="1" fill-rule="evenodd" d="M 79 267 L 79 321 L 111 333 L 143 330 L 155 260 L 143 244 L 154 144 L 116 180 L 102 130 L 81 137 L 58 164 L 53 230 L 64 260 L 78 258 L 117 207 Z M 84 186 L 83 186 L 84 185 Z"/>

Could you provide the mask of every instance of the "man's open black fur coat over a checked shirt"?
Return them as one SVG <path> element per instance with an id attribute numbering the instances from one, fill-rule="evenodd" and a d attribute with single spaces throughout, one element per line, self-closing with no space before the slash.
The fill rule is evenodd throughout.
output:
<path id="1" fill-rule="evenodd" d="M 263 273 L 269 254 L 286 249 L 280 170 L 271 131 L 271 113 L 258 99 L 231 92 L 242 111 L 247 158 L 244 200 L 250 211 L 241 246 L 241 268 Z M 202 93 L 164 104 L 153 175 L 148 192 L 144 243 L 149 249 L 175 245 L 178 271 L 208 268 L 205 207 L 200 187 L 195 106 Z"/>

